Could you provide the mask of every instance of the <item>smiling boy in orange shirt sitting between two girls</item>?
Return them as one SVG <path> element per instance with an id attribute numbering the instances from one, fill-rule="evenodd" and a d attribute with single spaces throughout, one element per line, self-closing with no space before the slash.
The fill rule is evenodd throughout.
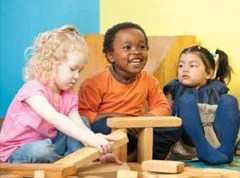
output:
<path id="1" fill-rule="evenodd" d="M 106 32 L 103 52 L 111 65 L 85 80 L 79 92 L 79 112 L 95 133 L 111 132 L 106 125 L 109 117 L 171 115 L 158 80 L 143 71 L 148 49 L 148 38 L 137 24 L 120 23 Z M 137 137 L 132 130 L 128 135 L 128 153 L 132 153 Z M 153 159 L 165 159 L 180 136 L 181 128 L 154 129 Z"/>

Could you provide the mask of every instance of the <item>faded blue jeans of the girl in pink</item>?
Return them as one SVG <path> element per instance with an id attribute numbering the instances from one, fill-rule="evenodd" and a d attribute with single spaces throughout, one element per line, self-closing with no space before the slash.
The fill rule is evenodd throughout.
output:
<path id="1" fill-rule="evenodd" d="M 86 118 L 82 117 L 87 127 L 90 125 Z M 57 136 L 26 143 L 18 148 L 9 157 L 9 163 L 53 163 L 64 156 L 84 147 L 83 144 L 58 131 Z"/>

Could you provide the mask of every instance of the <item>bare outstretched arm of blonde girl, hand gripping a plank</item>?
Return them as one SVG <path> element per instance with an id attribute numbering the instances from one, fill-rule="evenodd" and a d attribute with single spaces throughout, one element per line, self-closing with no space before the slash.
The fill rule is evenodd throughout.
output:
<path id="1" fill-rule="evenodd" d="M 108 153 L 111 151 L 111 146 L 107 141 L 107 136 L 94 134 L 81 122 L 76 124 L 69 117 L 57 112 L 43 96 L 32 96 L 26 99 L 26 103 L 41 118 L 51 123 L 56 129 L 60 130 L 64 134 L 81 141 L 84 145 L 98 148 L 101 153 Z M 71 117 L 75 118 L 77 117 L 77 114 L 74 112 Z M 80 120 L 80 116 L 78 119 Z"/>

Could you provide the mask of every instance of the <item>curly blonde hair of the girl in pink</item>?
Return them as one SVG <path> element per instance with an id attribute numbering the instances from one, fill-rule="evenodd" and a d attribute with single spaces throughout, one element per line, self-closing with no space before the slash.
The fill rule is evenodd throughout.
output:
<path id="1" fill-rule="evenodd" d="M 32 46 L 25 50 L 28 61 L 24 70 L 24 80 L 40 80 L 47 83 L 52 79 L 58 61 L 64 61 L 69 52 L 80 51 L 88 57 L 84 39 L 73 25 L 40 33 Z"/>

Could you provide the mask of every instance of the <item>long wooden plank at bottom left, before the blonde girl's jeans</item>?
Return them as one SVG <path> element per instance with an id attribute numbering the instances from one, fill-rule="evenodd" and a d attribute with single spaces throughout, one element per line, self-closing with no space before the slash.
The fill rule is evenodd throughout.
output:
<path id="1" fill-rule="evenodd" d="M 18 164 L 18 163 L 1 163 L 0 175 L 16 174 L 23 177 L 33 177 L 34 171 L 45 171 L 46 178 L 62 178 L 68 175 L 74 175 L 77 172 L 75 166 L 55 165 L 55 164 Z"/>

